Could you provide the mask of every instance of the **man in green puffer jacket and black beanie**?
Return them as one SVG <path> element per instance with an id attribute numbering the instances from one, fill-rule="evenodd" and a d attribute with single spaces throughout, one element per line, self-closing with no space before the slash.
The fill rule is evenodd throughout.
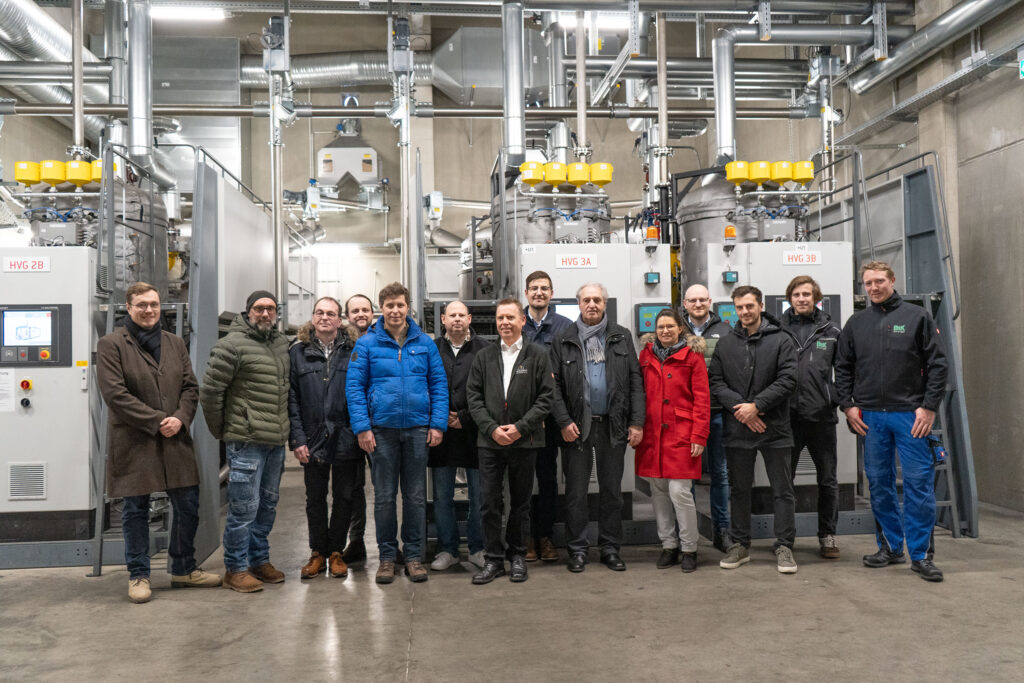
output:
<path id="1" fill-rule="evenodd" d="M 290 428 L 288 339 L 276 323 L 273 294 L 250 294 L 246 312 L 210 352 L 200 387 L 206 424 L 227 451 L 224 587 L 240 593 L 285 581 L 270 564 L 267 543 Z"/>

